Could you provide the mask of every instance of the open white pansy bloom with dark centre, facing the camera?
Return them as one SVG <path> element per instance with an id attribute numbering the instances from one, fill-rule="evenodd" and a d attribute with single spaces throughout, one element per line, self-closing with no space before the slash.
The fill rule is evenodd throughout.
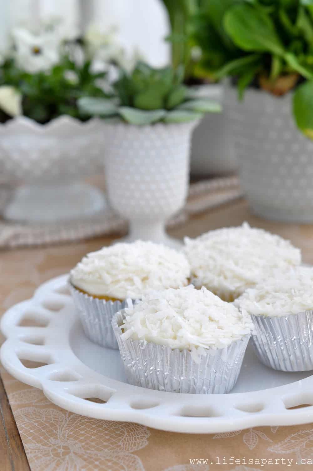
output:
<path id="1" fill-rule="evenodd" d="M 53 32 L 33 34 L 23 28 L 12 32 L 16 64 L 29 73 L 48 71 L 60 60 L 60 42 Z"/>

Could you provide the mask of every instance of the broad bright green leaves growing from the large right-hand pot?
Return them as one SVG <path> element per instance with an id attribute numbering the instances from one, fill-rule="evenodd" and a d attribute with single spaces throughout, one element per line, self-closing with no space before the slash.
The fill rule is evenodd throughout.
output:
<path id="1" fill-rule="evenodd" d="M 250 84 L 296 88 L 297 125 L 313 138 L 313 0 L 199 0 L 189 24 L 202 50 L 196 76 L 231 76 L 240 98 Z"/>

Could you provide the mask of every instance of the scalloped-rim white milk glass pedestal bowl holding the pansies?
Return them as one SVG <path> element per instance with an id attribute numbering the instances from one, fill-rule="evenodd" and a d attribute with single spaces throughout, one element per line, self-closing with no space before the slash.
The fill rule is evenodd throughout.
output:
<path id="1" fill-rule="evenodd" d="M 80 183 L 104 170 L 101 128 L 100 120 L 70 116 L 44 125 L 25 116 L 1 124 L 0 183 L 18 184 L 3 216 L 55 222 L 102 210 L 102 192 Z"/>

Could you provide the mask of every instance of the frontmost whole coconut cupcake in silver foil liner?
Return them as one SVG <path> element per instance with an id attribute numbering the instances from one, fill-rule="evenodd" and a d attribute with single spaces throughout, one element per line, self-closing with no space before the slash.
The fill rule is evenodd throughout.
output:
<path id="1" fill-rule="evenodd" d="M 227 393 L 252 322 L 205 287 L 150 292 L 112 321 L 128 382 L 160 391 Z"/>

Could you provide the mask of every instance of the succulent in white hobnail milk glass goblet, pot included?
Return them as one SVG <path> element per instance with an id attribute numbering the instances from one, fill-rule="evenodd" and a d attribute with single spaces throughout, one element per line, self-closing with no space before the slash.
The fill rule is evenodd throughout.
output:
<path id="1" fill-rule="evenodd" d="M 106 187 L 116 212 L 130 222 L 127 240 L 170 245 L 165 222 L 185 203 L 192 130 L 202 114 L 220 111 L 192 99 L 183 67 L 154 69 L 139 62 L 120 71 L 111 99 L 81 98 L 81 112 L 104 119 Z"/>

